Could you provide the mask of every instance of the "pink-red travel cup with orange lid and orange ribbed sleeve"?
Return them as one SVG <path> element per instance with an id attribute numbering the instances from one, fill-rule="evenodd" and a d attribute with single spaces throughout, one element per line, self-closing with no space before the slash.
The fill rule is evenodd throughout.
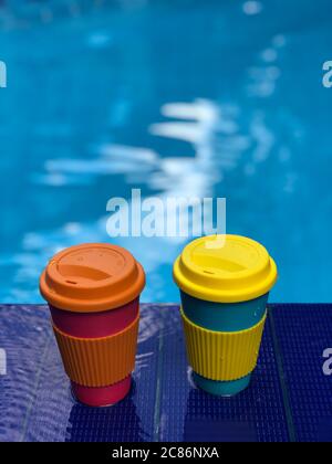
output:
<path id="1" fill-rule="evenodd" d="M 40 291 L 75 397 L 102 407 L 128 393 L 135 367 L 141 264 L 125 249 L 83 244 L 56 254 L 43 271 Z"/>

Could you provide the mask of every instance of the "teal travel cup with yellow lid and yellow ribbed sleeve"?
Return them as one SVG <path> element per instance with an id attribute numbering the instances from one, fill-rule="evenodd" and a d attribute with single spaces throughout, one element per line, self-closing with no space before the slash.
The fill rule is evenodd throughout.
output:
<path id="1" fill-rule="evenodd" d="M 174 264 L 194 381 L 234 396 L 249 386 L 277 266 L 267 250 L 238 235 L 204 236 Z"/>

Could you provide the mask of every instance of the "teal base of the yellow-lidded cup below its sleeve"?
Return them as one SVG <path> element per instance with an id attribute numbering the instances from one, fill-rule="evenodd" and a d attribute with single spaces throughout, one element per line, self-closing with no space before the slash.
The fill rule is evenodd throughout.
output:
<path id="1" fill-rule="evenodd" d="M 239 380 L 224 382 L 219 380 L 206 379 L 205 377 L 193 372 L 194 382 L 198 388 L 206 391 L 207 393 L 218 397 L 234 397 L 235 394 L 240 393 L 241 391 L 246 390 L 247 387 L 249 387 L 250 378 L 251 373 Z"/>

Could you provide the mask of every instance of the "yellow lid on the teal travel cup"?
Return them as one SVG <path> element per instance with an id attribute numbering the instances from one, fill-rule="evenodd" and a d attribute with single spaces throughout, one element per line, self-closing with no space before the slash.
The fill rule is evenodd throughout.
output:
<path id="1" fill-rule="evenodd" d="M 268 293 L 278 272 L 258 242 L 239 235 L 210 235 L 184 249 L 173 275 L 179 288 L 196 298 L 239 303 Z"/>

